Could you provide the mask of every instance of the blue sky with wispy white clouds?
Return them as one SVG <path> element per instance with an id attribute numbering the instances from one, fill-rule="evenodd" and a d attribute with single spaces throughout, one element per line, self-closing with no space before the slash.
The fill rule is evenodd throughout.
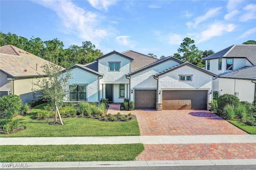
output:
<path id="1" fill-rule="evenodd" d="M 91 41 L 113 50 L 177 53 L 185 37 L 218 52 L 256 40 L 255 0 L 1 0 L 0 31 L 68 48 Z"/>

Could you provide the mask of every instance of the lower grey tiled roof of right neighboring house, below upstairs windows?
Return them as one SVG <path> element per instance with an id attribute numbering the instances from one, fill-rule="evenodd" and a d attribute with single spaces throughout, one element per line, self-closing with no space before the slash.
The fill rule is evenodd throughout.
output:
<path id="1" fill-rule="evenodd" d="M 256 65 L 246 66 L 232 72 L 219 75 L 220 78 L 236 78 L 245 80 L 256 80 Z"/>

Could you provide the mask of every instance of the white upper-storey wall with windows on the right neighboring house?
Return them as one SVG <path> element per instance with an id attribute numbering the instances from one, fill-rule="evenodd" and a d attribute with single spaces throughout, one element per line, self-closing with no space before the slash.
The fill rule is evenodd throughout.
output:
<path id="1" fill-rule="evenodd" d="M 224 72 L 230 72 L 233 70 L 237 70 L 244 66 L 252 66 L 252 64 L 247 59 L 234 59 L 233 60 L 233 70 L 226 70 L 226 58 L 222 59 L 222 69 L 218 70 L 219 59 L 210 60 L 210 72 L 214 74 L 221 74 Z M 207 60 L 205 61 L 205 69 L 207 70 Z"/>

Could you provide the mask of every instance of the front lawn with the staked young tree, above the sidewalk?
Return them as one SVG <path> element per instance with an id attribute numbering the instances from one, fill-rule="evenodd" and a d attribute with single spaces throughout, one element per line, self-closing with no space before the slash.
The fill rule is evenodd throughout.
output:
<path id="1" fill-rule="evenodd" d="M 49 125 L 46 121 L 32 119 L 39 109 L 46 104 L 41 104 L 20 118 L 20 126 L 26 129 L 12 133 L 1 134 L 0 137 L 80 137 L 80 136 L 137 136 L 140 135 L 136 119 L 127 122 L 104 122 L 97 119 L 80 117 L 62 118 L 64 125 Z M 53 120 L 51 120 L 53 121 Z"/>

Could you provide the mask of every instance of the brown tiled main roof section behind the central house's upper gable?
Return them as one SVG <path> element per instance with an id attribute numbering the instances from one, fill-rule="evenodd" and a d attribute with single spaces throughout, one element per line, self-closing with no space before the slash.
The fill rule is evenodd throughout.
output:
<path id="1" fill-rule="evenodd" d="M 131 72 L 139 70 L 140 68 L 143 68 L 145 66 L 148 66 L 149 64 L 152 64 L 152 63 L 158 61 L 158 59 L 156 59 L 156 58 L 153 58 L 148 55 L 141 54 L 141 53 L 137 53 L 132 50 L 124 51 L 124 52 L 122 52 L 122 54 L 133 59 L 133 61 L 131 63 Z"/>

